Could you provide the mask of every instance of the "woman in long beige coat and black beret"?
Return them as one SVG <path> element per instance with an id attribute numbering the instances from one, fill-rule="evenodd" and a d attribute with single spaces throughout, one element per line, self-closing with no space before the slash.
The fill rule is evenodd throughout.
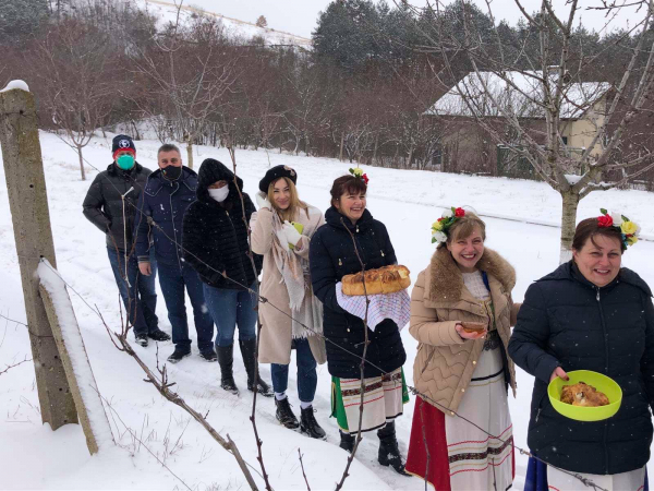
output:
<path id="1" fill-rule="evenodd" d="M 325 220 L 323 213 L 298 197 L 296 172 L 272 167 L 259 182 L 259 211 L 252 216 L 252 250 L 264 256 L 259 306 L 259 363 L 271 363 L 276 417 L 281 424 L 311 438 L 324 439 L 314 417 L 316 363 L 326 361 L 323 306 L 314 297 L 308 275 L 311 237 Z M 292 319 L 291 319 L 292 318 Z M 291 349 L 295 348 L 301 418 L 295 418 L 286 394 Z"/>

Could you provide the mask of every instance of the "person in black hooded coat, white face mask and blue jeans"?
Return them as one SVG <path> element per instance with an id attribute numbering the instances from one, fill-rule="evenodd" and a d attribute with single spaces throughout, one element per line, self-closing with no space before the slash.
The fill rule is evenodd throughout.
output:
<path id="1" fill-rule="evenodd" d="M 238 188 L 237 188 L 238 187 Z M 243 196 L 245 220 L 243 219 Z M 182 248 L 184 261 L 199 274 L 207 308 L 218 328 L 216 351 L 220 364 L 220 386 L 238 394 L 233 379 L 233 337 L 239 326 L 239 345 L 247 372 L 247 388 L 271 396 L 261 378 L 255 383 L 256 278 L 263 258 L 250 260 L 247 225 L 256 211 L 243 192 L 243 181 L 223 164 L 213 158 L 202 163 L 197 173 L 197 201 L 184 214 Z"/>

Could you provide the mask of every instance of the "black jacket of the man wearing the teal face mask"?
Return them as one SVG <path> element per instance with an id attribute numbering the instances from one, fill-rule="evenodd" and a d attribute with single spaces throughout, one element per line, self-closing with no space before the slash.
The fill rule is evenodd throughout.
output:
<path id="1" fill-rule="evenodd" d="M 136 203 L 150 173 L 152 170 L 146 169 L 138 163 L 129 171 L 111 164 L 107 167 L 107 170 L 102 170 L 96 176 L 90 188 L 88 188 L 82 204 L 84 216 L 107 235 L 108 247 L 113 248 L 113 241 L 116 241 L 118 249 L 121 251 L 132 249 L 132 231 L 135 225 L 138 226 L 136 220 L 142 218 L 141 215 L 136 216 Z M 121 195 L 126 193 L 130 188 L 133 188 L 133 190 L 125 196 L 125 230 Z M 124 240 L 125 231 L 126 244 Z"/>

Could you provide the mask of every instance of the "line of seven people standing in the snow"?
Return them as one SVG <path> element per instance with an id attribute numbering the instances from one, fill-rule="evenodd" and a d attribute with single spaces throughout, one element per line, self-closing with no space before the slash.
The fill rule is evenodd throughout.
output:
<path id="1" fill-rule="evenodd" d="M 136 164 L 134 142 L 125 135 L 113 140 L 112 153 L 114 161 L 88 191 L 84 214 L 107 235 L 110 264 L 142 346 L 148 338 L 169 338 L 155 314 L 158 271 L 175 345 L 169 361 L 191 354 L 185 289 L 199 356 L 218 360 L 222 388 L 238 393 L 232 370 L 238 326 L 249 390 L 274 395 L 284 427 L 325 439 L 313 399 L 316 366 L 327 362 L 340 446 L 353 451 L 360 426 L 377 430 L 379 463 L 420 476 L 438 491 L 511 488 L 516 466 L 507 399 L 517 390 L 518 364 L 535 378 L 529 446 L 537 459 L 530 459 L 525 489 L 585 489 L 570 472 L 605 489 L 646 486 L 654 307 L 647 285 L 620 264 L 638 235 L 625 217 L 582 220 L 572 260 L 532 284 L 520 304 L 511 297 L 516 271 L 485 248 L 485 223 L 463 208 L 447 211 L 433 226 L 436 251 L 411 298 L 405 290 L 375 296 L 380 298 L 371 308 L 390 313 L 366 327 L 367 309 L 343 295 L 342 277 L 362 264 L 372 270 L 401 262 L 386 227 L 366 207 L 367 176 L 355 169 L 336 179 L 323 215 L 300 200 L 294 169 L 272 167 L 259 182 L 257 209 L 243 181 L 218 160 L 204 160 L 196 175 L 182 165 L 179 148 L 162 145 L 159 169 L 150 173 Z M 255 373 L 257 316 L 258 362 L 270 363 L 272 391 Z M 407 320 L 419 347 L 404 463 L 395 419 L 409 400 L 400 336 Z M 467 328 L 473 324 L 483 328 Z M 292 349 L 300 421 L 287 395 Z M 571 370 L 614 379 L 623 393 L 618 414 L 581 422 L 556 412 L 547 385 Z"/>

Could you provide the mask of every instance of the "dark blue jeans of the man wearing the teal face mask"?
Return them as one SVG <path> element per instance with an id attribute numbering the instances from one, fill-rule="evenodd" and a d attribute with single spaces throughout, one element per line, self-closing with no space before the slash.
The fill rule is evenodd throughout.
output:
<path id="1" fill-rule="evenodd" d="M 157 290 L 155 278 L 157 276 L 157 261 L 154 249 L 150 248 L 150 266 L 153 274 L 142 275 L 138 272 L 136 254 L 128 259 L 128 282 L 125 282 L 125 256 L 123 251 L 107 248 L 109 263 L 118 285 L 118 291 L 125 306 L 128 319 L 134 326 L 134 336 L 147 335 L 159 328 L 159 319 L 155 313 L 157 309 Z"/>

